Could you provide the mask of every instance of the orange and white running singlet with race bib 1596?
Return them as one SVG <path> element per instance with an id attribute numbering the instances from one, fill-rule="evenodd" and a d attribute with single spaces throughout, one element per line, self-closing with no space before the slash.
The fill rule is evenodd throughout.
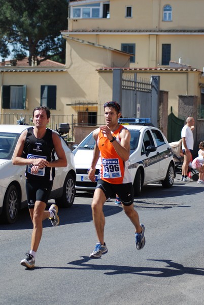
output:
<path id="1" fill-rule="evenodd" d="M 120 131 L 124 127 L 119 126 L 112 135 L 120 143 Z M 128 161 L 123 161 L 115 151 L 113 144 L 100 130 L 97 138 L 97 145 L 100 150 L 101 168 L 100 179 L 111 184 L 122 184 L 132 182 L 130 172 L 127 168 Z"/>

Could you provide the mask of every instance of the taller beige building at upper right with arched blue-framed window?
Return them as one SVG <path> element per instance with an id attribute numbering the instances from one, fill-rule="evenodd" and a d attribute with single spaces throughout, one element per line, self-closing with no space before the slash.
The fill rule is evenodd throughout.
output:
<path id="1" fill-rule="evenodd" d="M 203 9 L 200 0 L 71 1 L 66 35 L 131 53 L 129 67 L 160 75 L 168 109 L 178 113 L 178 95 L 195 95 L 204 107 Z"/>

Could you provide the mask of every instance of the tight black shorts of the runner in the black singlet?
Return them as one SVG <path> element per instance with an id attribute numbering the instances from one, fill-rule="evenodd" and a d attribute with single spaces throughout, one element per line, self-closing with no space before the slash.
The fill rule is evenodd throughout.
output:
<path id="1" fill-rule="evenodd" d="M 36 201 L 48 203 L 53 181 L 36 181 L 25 179 L 28 208 L 34 208 Z"/>

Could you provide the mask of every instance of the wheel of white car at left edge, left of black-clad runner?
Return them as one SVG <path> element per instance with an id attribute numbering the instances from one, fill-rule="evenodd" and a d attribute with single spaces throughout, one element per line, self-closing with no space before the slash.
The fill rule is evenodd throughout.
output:
<path id="1" fill-rule="evenodd" d="M 16 222 L 19 211 L 19 194 L 14 185 L 10 185 L 4 197 L 1 221 L 7 224 Z"/>

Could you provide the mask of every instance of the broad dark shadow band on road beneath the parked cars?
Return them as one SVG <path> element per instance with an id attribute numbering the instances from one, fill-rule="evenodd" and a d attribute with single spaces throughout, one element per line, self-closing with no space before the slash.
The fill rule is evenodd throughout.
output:
<path id="1" fill-rule="evenodd" d="M 134 207 L 144 209 L 166 209 L 173 208 L 175 206 L 180 206 L 180 203 L 177 203 L 175 200 L 173 202 L 168 202 L 166 198 L 180 197 L 183 195 L 194 195 L 203 192 L 204 188 L 200 185 L 196 185 L 196 182 L 187 182 L 186 184 L 180 182 L 179 180 L 175 181 L 175 184 L 170 189 L 164 189 L 161 184 L 151 184 L 143 187 L 142 194 L 140 197 L 134 197 Z M 77 192 L 75 202 L 77 197 L 80 198 L 89 198 L 93 197 L 93 193 L 86 192 Z M 115 198 L 114 196 L 112 198 Z M 158 202 L 158 199 L 161 198 L 162 202 Z M 148 199 L 150 199 L 148 201 Z M 157 202 L 154 202 L 154 199 L 157 199 Z M 164 199 L 164 200 L 163 200 Z M 80 222 L 90 222 L 92 221 L 92 212 L 91 212 L 91 203 L 86 203 L 84 200 L 83 203 L 75 203 L 71 208 L 59 208 L 59 218 L 60 224 L 73 224 Z M 91 202 L 91 200 L 89 200 Z M 178 200 L 178 202 L 180 202 Z M 49 202 L 51 205 L 53 202 Z M 189 207 L 186 205 L 181 205 L 182 207 Z M 104 214 L 105 217 L 117 214 L 122 211 L 121 206 L 116 206 L 114 204 L 114 199 L 112 202 L 106 202 L 104 205 Z M 50 221 L 44 221 L 44 228 L 50 227 Z M 0 224 L 0 230 L 24 230 L 32 229 L 32 223 L 29 216 L 29 211 L 27 208 L 24 208 L 19 211 L 19 217 L 15 224 L 3 225 Z"/>

